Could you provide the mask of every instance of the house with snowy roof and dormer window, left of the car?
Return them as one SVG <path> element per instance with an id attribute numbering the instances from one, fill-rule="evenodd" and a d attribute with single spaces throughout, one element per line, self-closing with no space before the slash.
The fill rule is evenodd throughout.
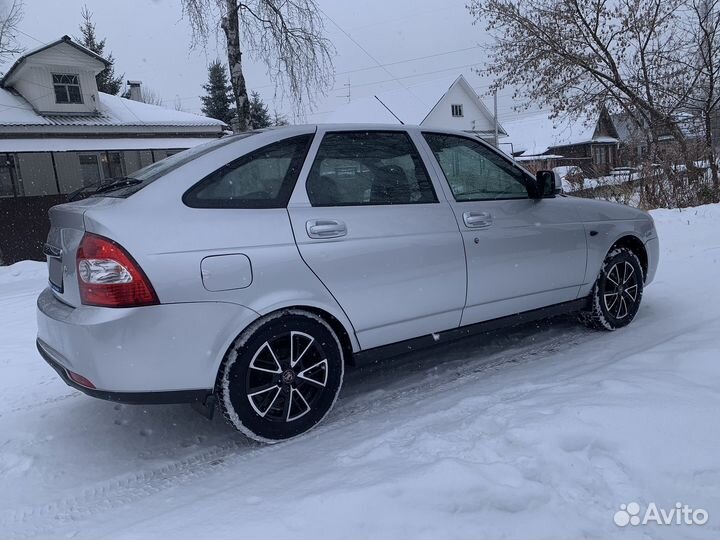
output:
<path id="1" fill-rule="evenodd" d="M 204 116 L 98 92 L 102 57 L 64 36 L 0 78 L 0 258 L 37 257 L 47 210 L 67 194 L 223 135 Z"/>

